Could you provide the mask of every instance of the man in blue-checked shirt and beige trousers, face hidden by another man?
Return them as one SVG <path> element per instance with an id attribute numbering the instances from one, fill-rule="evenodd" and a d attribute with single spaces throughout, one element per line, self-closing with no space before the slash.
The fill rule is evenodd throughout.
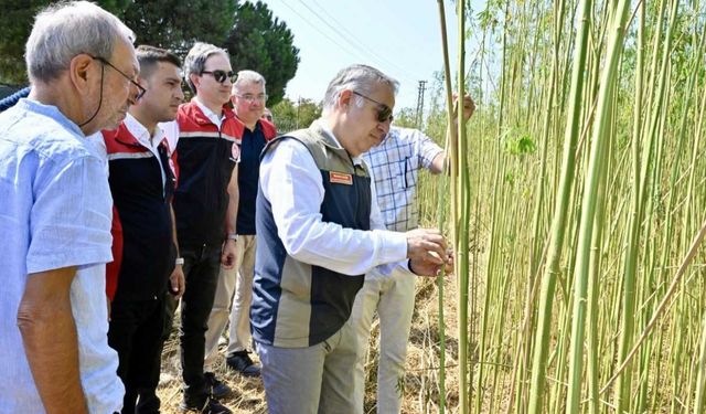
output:
<path id="1" fill-rule="evenodd" d="M 454 103 L 456 105 L 456 103 Z M 470 96 L 463 99 L 463 116 L 468 120 L 475 105 Z M 393 126 L 383 142 L 367 151 L 363 159 L 373 170 L 377 205 L 387 230 L 407 232 L 418 227 L 417 177 L 420 169 L 434 174 L 443 171 L 446 152 L 421 131 Z M 394 276 L 376 269 L 365 275 L 365 284 L 355 297 L 351 326 L 360 340 L 355 365 L 356 411 L 363 413 L 365 371 L 373 317 L 379 319 L 379 352 L 377 364 L 377 413 L 399 413 L 404 388 L 407 342 L 415 306 L 414 275 L 395 270 Z"/>

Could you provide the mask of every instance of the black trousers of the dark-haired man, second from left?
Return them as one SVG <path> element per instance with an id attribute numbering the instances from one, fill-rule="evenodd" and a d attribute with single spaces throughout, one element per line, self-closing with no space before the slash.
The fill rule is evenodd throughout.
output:
<path id="1" fill-rule="evenodd" d="M 156 391 L 164 316 L 164 295 L 149 300 L 116 300 L 110 305 L 108 344 L 118 352 L 118 376 L 125 385 L 122 414 L 159 413 Z"/>

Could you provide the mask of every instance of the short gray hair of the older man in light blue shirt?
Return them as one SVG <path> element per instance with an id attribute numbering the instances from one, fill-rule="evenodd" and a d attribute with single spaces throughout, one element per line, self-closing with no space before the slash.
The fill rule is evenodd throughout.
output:
<path id="1" fill-rule="evenodd" d="M 132 44 L 135 33 L 118 18 L 88 1 L 52 4 L 36 14 L 24 60 L 30 82 L 51 82 L 82 53 L 110 59 L 116 40 Z"/>

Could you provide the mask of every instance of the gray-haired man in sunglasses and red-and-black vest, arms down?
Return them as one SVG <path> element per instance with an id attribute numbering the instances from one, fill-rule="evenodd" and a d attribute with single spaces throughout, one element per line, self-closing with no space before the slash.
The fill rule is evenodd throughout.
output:
<path id="1" fill-rule="evenodd" d="M 231 413 L 216 400 L 228 395 L 231 389 L 214 373 L 204 373 L 203 362 L 218 269 L 233 268 L 236 259 L 237 163 L 243 125 L 226 105 L 236 76 L 223 49 L 194 44 L 184 60 L 184 70 L 195 96 L 179 108 L 175 123 L 162 125 L 168 137 L 179 137 L 175 146 L 179 185 L 173 205 L 186 280 L 181 298 L 184 394 L 180 407 Z M 168 327 L 174 309 L 172 301 L 168 307 Z"/>

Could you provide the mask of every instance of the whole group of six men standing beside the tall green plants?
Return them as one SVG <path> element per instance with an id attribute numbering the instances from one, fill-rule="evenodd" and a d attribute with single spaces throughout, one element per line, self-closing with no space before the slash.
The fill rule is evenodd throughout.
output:
<path id="1" fill-rule="evenodd" d="M 392 127 L 397 82 L 345 67 L 278 136 L 266 79 L 223 49 L 133 42 L 98 6 L 49 7 L 0 114 L 0 413 L 159 413 L 178 307 L 184 412 L 231 413 L 229 327 L 225 365 L 269 413 L 362 413 L 375 312 L 378 413 L 399 412 L 415 277 L 452 256 L 417 229 L 417 171 L 446 155 Z"/>

